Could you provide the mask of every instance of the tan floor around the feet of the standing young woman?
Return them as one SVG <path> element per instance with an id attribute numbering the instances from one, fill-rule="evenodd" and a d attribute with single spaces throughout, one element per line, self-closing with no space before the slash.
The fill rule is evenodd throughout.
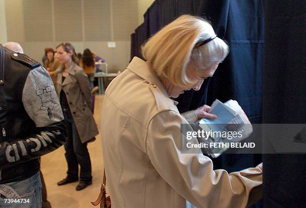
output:
<path id="1" fill-rule="evenodd" d="M 102 101 L 103 95 L 96 95 L 94 119 L 98 128 L 100 128 Z M 52 208 L 94 208 L 90 201 L 96 200 L 103 177 L 100 136 L 97 135 L 94 142 L 88 143 L 87 148 L 91 159 L 92 185 L 78 192 L 75 191 L 77 182 L 60 187 L 56 185 L 58 181 L 66 177 L 67 164 L 63 147 L 41 158 L 41 172 L 46 184 L 47 199 Z"/>

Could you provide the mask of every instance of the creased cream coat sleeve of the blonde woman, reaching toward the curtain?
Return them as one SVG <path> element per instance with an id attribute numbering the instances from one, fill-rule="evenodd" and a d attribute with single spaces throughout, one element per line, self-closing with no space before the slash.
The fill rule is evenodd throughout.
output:
<path id="1" fill-rule="evenodd" d="M 197 208 L 245 208 L 250 191 L 262 184 L 261 165 L 231 174 L 214 171 L 208 157 L 184 147 L 180 124 L 186 123 L 174 111 L 158 113 L 151 119 L 146 151 L 156 171 Z M 186 126 L 187 131 L 192 131 Z M 196 138 L 188 142 L 198 144 Z"/>

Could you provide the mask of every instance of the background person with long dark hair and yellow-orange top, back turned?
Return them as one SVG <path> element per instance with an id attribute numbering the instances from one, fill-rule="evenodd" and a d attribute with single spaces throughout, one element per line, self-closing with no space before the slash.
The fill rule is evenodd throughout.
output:
<path id="1" fill-rule="evenodd" d="M 80 66 L 84 69 L 84 71 L 85 71 L 85 73 L 88 77 L 88 80 L 89 80 L 90 89 L 92 89 L 93 88 L 95 63 L 94 63 L 92 53 L 88 48 L 86 48 L 83 51 L 83 55 L 82 55 L 82 58 L 80 60 Z"/>

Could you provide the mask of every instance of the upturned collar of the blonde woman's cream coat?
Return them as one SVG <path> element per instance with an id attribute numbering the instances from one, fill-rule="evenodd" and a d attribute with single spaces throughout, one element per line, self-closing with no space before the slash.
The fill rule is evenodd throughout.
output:
<path id="1" fill-rule="evenodd" d="M 138 57 L 133 57 L 133 59 L 126 68 L 135 73 L 136 75 L 140 76 L 142 79 L 146 80 L 148 84 L 156 85 L 156 87 L 165 97 L 169 97 L 161 81 L 159 80 L 155 72 L 150 68 L 147 62 Z M 177 104 L 176 101 L 173 100 L 173 102 L 175 103 L 175 105 Z"/>

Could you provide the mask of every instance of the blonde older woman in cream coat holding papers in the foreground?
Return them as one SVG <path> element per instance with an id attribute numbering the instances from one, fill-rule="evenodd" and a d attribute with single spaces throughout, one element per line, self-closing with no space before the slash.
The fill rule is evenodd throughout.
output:
<path id="1" fill-rule="evenodd" d="M 115 208 L 244 208 L 262 184 L 262 164 L 228 174 L 208 157 L 182 152 L 180 125 L 216 118 L 209 106 L 180 114 L 177 97 L 198 90 L 228 54 L 200 17 L 182 15 L 142 47 L 108 86 L 101 137 L 108 193 Z M 197 144 L 197 140 L 189 142 Z M 250 199 L 251 198 L 251 199 Z"/>

